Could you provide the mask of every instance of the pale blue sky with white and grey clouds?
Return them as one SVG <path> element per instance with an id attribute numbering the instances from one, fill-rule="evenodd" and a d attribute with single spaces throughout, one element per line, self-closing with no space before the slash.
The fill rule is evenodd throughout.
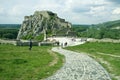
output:
<path id="1" fill-rule="evenodd" d="M 0 24 L 21 24 L 24 16 L 49 10 L 72 24 L 120 19 L 120 0 L 0 0 Z"/>

